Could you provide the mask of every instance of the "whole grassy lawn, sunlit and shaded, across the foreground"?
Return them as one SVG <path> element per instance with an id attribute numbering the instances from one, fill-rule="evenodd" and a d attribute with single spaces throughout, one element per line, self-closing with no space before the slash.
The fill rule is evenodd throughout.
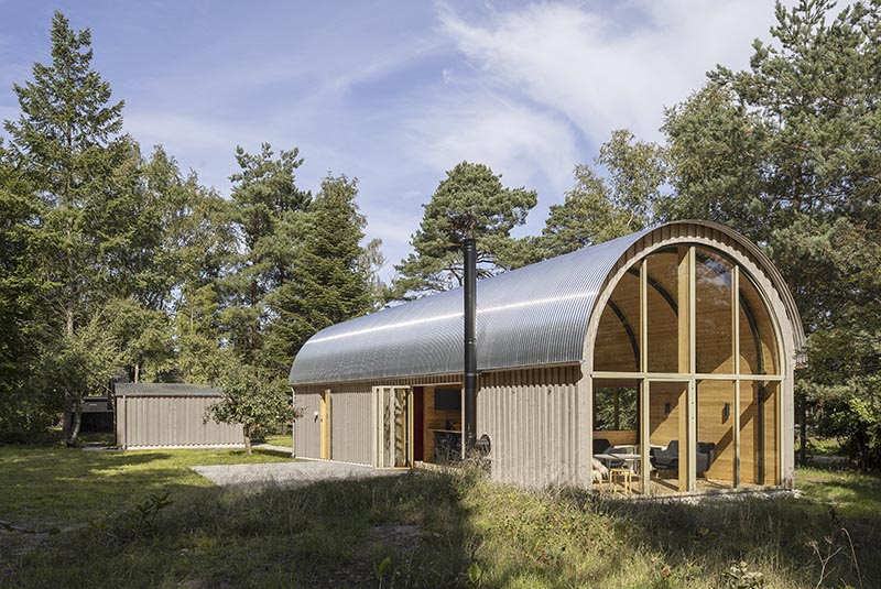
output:
<path id="1" fill-rule="evenodd" d="M 872 476 L 804 469 L 803 498 L 689 504 L 531 492 L 476 470 L 224 490 L 188 468 L 244 459 L 0 448 L 13 483 L 0 519 L 88 524 L 1 532 L 28 539 L 0 549 L 0 586 L 881 587 Z"/>

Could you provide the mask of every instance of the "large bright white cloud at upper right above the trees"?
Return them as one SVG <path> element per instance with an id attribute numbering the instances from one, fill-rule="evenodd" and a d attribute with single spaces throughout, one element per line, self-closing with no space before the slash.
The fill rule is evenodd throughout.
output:
<path id="1" fill-rule="evenodd" d="M 439 20 L 476 77 L 552 109 L 596 145 L 622 127 L 659 139 L 664 106 L 701 86 L 717 63 L 746 66 L 773 6 L 644 0 L 613 12 L 605 3 L 542 3 L 477 24 L 442 7 Z"/>

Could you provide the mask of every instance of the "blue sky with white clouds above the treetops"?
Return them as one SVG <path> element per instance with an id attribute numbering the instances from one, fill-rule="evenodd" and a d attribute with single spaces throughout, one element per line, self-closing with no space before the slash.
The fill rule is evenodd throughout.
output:
<path id="1" fill-rule="evenodd" d="M 221 2 L 0 0 L 0 119 L 13 83 L 48 62 L 52 13 L 90 28 L 126 130 L 229 194 L 237 144 L 298 146 L 298 185 L 360 181 L 368 237 L 389 263 L 444 172 L 482 162 L 539 192 L 541 231 L 618 128 L 657 140 L 663 107 L 721 63 L 747 66 L 771 1 Z"/>

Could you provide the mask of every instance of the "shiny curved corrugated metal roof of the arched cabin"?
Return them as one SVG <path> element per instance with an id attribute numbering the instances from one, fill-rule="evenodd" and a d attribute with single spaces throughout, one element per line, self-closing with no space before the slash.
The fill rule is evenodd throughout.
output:
<path id="1" fill-rule="evenodd" d="M 651 229 L 545 260 L 477 285 L 478 370 L 579 362 L 599 288 Z M 291 384 L 460 372 L 456 288 L 330 326 L 291 367 Z"/>

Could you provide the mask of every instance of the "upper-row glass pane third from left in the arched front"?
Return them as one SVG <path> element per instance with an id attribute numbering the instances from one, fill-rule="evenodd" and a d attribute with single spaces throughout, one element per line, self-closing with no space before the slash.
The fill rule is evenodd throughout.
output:
<path id="1" fill-rule="evenodd" d="M 733 265 L 698 249 L 695 262 L 695 358 L 697 372 L 733 374 L 735 330 L 731 298 Z"/>

